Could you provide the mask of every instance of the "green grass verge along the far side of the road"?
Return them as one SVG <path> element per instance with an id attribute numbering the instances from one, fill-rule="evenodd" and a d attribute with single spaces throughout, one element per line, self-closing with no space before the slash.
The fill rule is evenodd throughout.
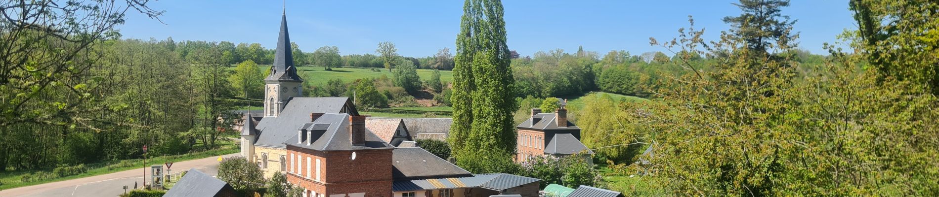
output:
<path id="1" fill-rule="evenodd" d="M 99 163 L 87 163 L 85 166 L 88 166 L 88 171 L 75 176 L 63 176 L 51 179 L 44 179 L 38 181 L 29 181 L 23 182 L 23 176 L 32 173 L 51 173 L 53 170 L 29 170 L 29 171 L 12 171 L 0 173 L 0 190 L 7 190 L 12 188 L 26 187 L 32 185 L 38 185 L 43 183 L 51 183 L 56 181 L 63 181 L 87 176 L 100 176 L 104 174 L 111 174 L 115 172 L 139 169 L 142 167 L 149 166 L 150 164 L 160 164 L 163 162 L 182 162 L 188 160 L 202 159 L 212 156 L 226 155 L 231 153 L 239 152 L 240 149 L 232 141 L 226 141 L 220 139 L 216 143 L 219 148 L 210 149 L 206 151 L 186 153 L 182 155 L 167 155 L 159 157 L 147 157 L 146 165 L 144 164 L 143 159 L 131 159 L 131 160 L 122 160 L 122 161 L 111 161 L 111 162 L 99 162 Z M 198 146 L 198 145 L 197 145 Z"/>

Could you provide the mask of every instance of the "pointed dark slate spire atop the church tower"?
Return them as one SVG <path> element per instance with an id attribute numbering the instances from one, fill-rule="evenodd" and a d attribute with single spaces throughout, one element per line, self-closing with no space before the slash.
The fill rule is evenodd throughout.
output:
<path id="1" fill-rule="evenodd" d="M 286 14 L 281 18 L 281 32 L 277 36 L 274 65 L 270 69 L 270 76 L 264 78 L 264 80 L 303 81 L 303 78 L 297 75 L 297 68 L 293 64 L 293 51 L 290 48 Z"/>

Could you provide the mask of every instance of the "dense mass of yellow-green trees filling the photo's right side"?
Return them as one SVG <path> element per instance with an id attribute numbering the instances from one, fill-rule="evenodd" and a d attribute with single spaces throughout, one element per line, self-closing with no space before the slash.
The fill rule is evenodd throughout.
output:
<path id="1" fill-rule="evenodd" d="M 652 39 L 677 49 L 666 64 L 686 72 L 665 76 L 674 79 L 654 102 L 591 98 L 577 116 L 585 143 L 624 165 L 649 161 L 629 166 L 675 195 L 939 193 L 939 102 L 934 76 L 923 75 L 936 59 L 922 50 L 936 45 L 908 41 L 929 33 L 893 28 L 934 26 L 939 16 L 925 10 L 939 5 L 852 1 L 861 25 L 845 35 L 858 50 L 827 46 L 821 58 L 794 49 L 793 21 L 781 14 L 788 1 L 736 5 L 743 13 L 725 18 L 732 28 L 720 40 L 701 39 L 693 22 L 675 42 Z M 647 146 L 654 154 L 639 155 Z"/>

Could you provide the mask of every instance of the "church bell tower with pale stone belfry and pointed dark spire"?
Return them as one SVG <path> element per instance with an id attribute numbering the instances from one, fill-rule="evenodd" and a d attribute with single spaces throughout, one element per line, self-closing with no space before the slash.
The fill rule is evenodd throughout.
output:
<path id="1" fill-rule="evenodd" d="M 277 50 L 274 53 L 274 65 L 270 66 L 270 75 L 264 78 L 264 116 L 277 117 L 284 106 L 293 97 L 303 95 L 303 78 L 297 75 L 290 48 L 290 35 L 287 34 L 286 13 L 281 18 L 281 32 L 277 37 Z"/>

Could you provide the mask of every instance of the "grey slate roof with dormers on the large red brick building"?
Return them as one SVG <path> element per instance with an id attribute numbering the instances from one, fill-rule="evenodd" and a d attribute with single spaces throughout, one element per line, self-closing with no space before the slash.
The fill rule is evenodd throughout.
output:
<path id="1" fill-rule="evenodd" d="M 309 119 L 309 118 L 308 118 Z M 309 123 L 309 122 L 308 122 Z M 329 126 L 326 126 L 326 125 Z M 372 132 L 365 133 L 365 144 L 364 146 L 353 146 L 349 138 L 349 115 L 348 114 L 334 114 L 326 113 L 323 116 L 313 121 L 312 124 L 303 124 L 306 128 L 312 129 L 313 132 L 313 143 L 306 145 L 306 138 L 300 141 L 300 144 L 297 144 L 298 138 L 297 131 L 299 129 L 294 129 L 293 134 L 289 138 L 281 141 L 283 145 L 289 145 L 292 147 L 298 148 L 309 148 L 316 150 L 355 150 L 355 149 L 385 149 L 385 148 L 394 148 L 392 145 L 388 144 L 385 141 L 382 141 L 381 138 L 378 138 L 377 135 L 372 134 Z M 326 127 L 325 129 L 323 127 Z M 366 129 L 367 131 L 367 129 Z"/>

